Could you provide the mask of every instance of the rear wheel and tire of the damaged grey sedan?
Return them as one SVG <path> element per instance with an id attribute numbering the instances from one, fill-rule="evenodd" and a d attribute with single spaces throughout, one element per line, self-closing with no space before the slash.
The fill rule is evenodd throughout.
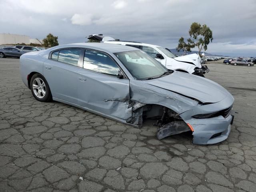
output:
<path id="1" fill-rule="evenodd" d="M 37 82 L 40 83 L 37 83 Z M 33 88 L 33 82 L 35 86 L 38 86 L 38 88 Z M 44 86 L 41 86 L 43 85 Z M 40 85 L 39 85 L 40 84 Z M 52 100 L 52 93 L 50 90 L 50 87 L 48 85 L 48 82 L 46 81 L 46 79 L 44 78 L 44 76 L 42 76 L 41 74 L 34 74 L 30 80 L 30 90 L 32 92 L 32 95 L 34 96 L 34 98 L 38 101 L 41 102 L 49 102 Z M 36 92 L 40 92 L 40 94 L 38 94 L 38 96 L 36 95 Z"/>

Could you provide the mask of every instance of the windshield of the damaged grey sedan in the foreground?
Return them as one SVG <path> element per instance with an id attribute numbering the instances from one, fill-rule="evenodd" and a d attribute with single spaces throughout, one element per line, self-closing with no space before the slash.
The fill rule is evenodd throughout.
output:
<path id="1" fill-rule="evenodd" d="M 168 70 L 144 51 L 115 53 L 122 64 L 137 80 L 158 78 Z"/>

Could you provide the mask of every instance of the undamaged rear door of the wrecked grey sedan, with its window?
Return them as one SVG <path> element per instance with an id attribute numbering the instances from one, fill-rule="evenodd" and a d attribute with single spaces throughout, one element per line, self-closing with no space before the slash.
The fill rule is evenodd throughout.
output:
<path id="1" fill-rule="evenodd" d="M 80 48 L 65 48 L 50 52 L 48 60 L 44 62 L 44 77 L 53 97 L 78 104 L 79 58 L 82 59 Z"/>

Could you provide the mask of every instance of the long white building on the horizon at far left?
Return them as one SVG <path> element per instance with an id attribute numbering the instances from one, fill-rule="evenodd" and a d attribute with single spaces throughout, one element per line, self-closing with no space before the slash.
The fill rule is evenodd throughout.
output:
<path id="1" fill-rule="evenodd" d="M 26 35 L 16 35 L 16 34 L 6 34 L 6 33 L 0 33 L 0 45 L 6 45 L 6 44 L 30 44 L 30 43 L 36 43 L 36 44 L 42 44 L 42 40 L 38 39 L 30 39 L 29 36 Z"/>

